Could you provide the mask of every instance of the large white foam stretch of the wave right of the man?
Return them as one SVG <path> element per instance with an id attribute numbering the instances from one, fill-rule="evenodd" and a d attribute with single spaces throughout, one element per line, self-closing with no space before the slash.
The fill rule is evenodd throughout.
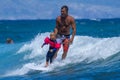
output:
<path id="1" fill-rule="evenodd" d="M 106 59 L 120 51 L 119 41 L 120 37 L 92 38 L 76 36 L 74 44 L 70 47 L 69 54 L 71 55 L 68 55 L 68 58 L 72 59 L 76 56 L 76 61 L 89 59 L 89 62 L 101 58 Z"/>

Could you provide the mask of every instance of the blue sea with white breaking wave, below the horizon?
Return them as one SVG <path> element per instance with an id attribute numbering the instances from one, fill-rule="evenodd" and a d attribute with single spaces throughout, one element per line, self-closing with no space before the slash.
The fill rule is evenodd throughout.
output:
<path id="1" fill-rule="evenodd" d="M 55 20 L 1 20 L 0 80 L 120 80 L 120 19 L 77 19 L 67 58 L 61 48 L 44 68 L 49 46 L 41 45 L 54 27 Z"/>

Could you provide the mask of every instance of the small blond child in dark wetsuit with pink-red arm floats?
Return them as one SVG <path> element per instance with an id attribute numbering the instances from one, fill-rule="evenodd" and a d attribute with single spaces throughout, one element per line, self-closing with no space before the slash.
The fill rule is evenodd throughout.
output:
<path id="1" fill-rule="evenodd" d="M 54 56 L 55 52 L 60 48 L 60 44 L 57 43 L 56 36 L 55 36 L 54 33 L 50 34 L 50 38 L 49 37 L 45 38 L 44 43 L 41 46 L 41 48 L 46 44 L 49 44 L 50 47 L 49 47 L 49 50 L 48 50 L 47 55 L 46 55 L 46 65 L 45 65 L 45 67 L 48 66 L 49 61 L 50 61 L 50 64 L 52 63 L 53 56 Z"/>

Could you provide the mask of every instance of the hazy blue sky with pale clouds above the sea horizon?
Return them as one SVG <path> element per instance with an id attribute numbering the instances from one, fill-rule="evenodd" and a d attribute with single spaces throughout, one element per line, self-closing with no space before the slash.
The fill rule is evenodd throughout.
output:
<path id="1" fill-rule="evenodd" d="M 75 19 L 120 18 L 120 0 L 0 0 L 0 20 L 56 19 L 63 5 Z"/>

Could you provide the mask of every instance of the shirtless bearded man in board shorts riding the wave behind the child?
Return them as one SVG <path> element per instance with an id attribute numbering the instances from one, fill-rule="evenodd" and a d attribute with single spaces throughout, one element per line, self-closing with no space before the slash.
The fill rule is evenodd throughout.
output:
<path id="1" fill-rule="evenodd" d="M 70 29 L 72 28 L 72 37 L 70 38 Z M 76 34 L 76 24 L 72 16 L 68 15 L 68 7 L 61 7 L 61 15 L 56 19 L 54 33 L 57 36 L 57 42 L 63 44 L 62 60 L 66 58 L 69 45 L 73 42 Z M 58 51 L 57 51 L 58 52 Z M 57 57 L 57 52 L 54 58 Z"/>

